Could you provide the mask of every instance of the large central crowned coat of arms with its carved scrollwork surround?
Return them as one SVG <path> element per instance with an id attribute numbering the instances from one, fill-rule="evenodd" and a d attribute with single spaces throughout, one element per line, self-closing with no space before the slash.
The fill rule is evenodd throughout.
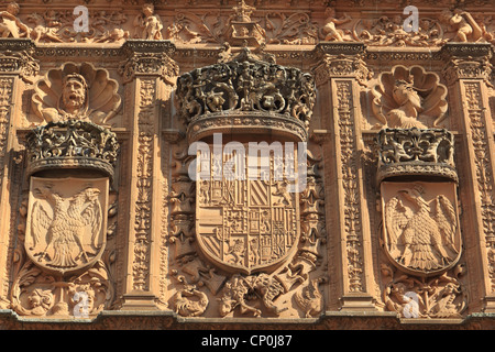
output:
<path id="1" fill-rule="evenodd" d="M 178 118 L 188 142 L 201 147 L 191 156 L 182 141 L 173 152 L 168 199 L 176 292 L 169 305 L 184 317 L 317 317 L 327 282 L 319 161 L 299 161 L 294 144 L 287 148 L 275 141 L 282 154 L 262 147 L 253 165 L 250 143 L 208 140 L 222 132 L 242 140 L 249 131 L 262 142 L 271 130 L 282 141 L 305 141 L 312 78 L 248 48 L 226 57 L 178 79 Z M 306 188 L 294 191 L 300 179 L 287 178 L 284 165 L 298 169 L 300 163 Z"/>

